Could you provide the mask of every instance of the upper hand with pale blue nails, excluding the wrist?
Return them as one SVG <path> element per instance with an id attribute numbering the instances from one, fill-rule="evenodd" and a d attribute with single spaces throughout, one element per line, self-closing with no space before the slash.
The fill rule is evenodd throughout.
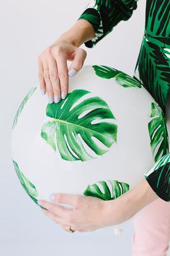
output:
<path id="1" fill-rule="evenodd" d="M 38 56 L 40 89 L 42 95 L 48 93 L 48 103 L 58 103 L 68 94 L 68 75 L 73 77 L 86 59 L 86 51 L 78 48 L 61 35 L 53 45 L 48 46 Z M 67 61 L 73 61 L 67 67 Z"/>

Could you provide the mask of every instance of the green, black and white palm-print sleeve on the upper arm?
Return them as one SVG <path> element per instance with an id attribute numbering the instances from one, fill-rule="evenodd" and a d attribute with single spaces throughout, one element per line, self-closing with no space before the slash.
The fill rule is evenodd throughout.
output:
<path id="1" fill-rule="evenodd" d="M 95 38 L 86 41 L 86 47 L 94 47 L 110 33 L 121 20 L 128 20 L 137 8 L 138 0 L 92 0 L 78 20 L 87 20 L 94 27 Z"/>

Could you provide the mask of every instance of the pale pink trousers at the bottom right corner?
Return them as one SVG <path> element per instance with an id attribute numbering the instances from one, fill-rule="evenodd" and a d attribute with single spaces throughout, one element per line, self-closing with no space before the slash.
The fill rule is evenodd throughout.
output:
<path id="1" fill-rule="evenodd" d="M 166 256 L 170 242 L 170 202 L 158 198 L 134 218 L 133 256 Z"/>

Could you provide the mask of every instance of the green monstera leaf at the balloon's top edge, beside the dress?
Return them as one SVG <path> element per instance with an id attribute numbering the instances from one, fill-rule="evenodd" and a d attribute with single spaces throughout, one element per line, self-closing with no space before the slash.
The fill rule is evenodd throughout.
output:
<path id="1" fill-rule="evenodd" d="M 119 85 L 122 85 L 123 87 L 137 87 L 141 88 L 140 82 L 135 80 L 133 77 L 130 77 L 128 74 L 125 74 L 124 72 L 121 72 L 117 69 L 113 69 L 112 67 L 107 66 L 92 66 L 94 68 L 95 73 L 102 78 L 113 78 L 115 77 L 115 80 Z"/>

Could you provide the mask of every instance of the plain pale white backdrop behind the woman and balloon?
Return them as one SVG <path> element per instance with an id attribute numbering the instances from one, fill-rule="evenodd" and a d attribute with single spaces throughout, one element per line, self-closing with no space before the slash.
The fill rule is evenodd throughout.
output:
<path id="1" fill-rule="evenodd" d="M 37 56 L 68 30 L 89 0 L 1 1 L 1 136 L 0 136 L 0 255 L 130 256 L 132 223 L 115 237 L 112 231 L 70 234 L 63 231 L 24 193 L 11 161 L 10 137 L 14 114 L 30 87 L 39 84 Z M 143 37 L 146 1 L 128 22 L 121 22 L 88 53 L 85 64 L 105 64 L 133 74 Z M 144 170 L 146 171 L 146 170 Z"/>

